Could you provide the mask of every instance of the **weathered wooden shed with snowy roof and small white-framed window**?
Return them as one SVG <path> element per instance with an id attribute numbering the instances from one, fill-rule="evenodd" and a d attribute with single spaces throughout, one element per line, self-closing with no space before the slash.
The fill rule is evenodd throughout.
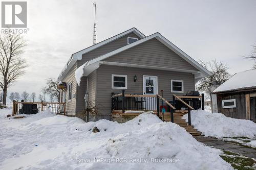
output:
<path id="1" fill-rule="evenodd" d="M 256 122 L 256 69 L 238 72 L 212 93 L 219 113 Z"/>

